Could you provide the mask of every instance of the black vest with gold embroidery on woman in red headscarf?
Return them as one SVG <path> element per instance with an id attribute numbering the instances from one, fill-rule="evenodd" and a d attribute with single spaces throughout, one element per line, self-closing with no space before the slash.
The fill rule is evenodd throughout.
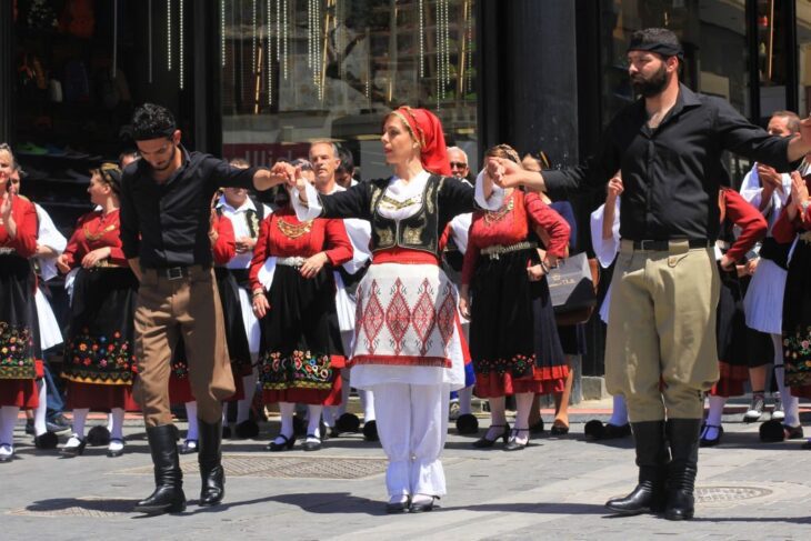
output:
<path id="1" fill-rule="evenodd" d="M 438 256 L 439 209 L 437 199 L 442 189 L 442 181 L 441 177 L 434 174 L 429 177 L 422 193 L 420 210 L 399 221 L 386 218 L 378 212 L 389 181 L 387 179 L 379 183 L 374 182 L 371 188 L 372 252 L 397 247 Z"/>

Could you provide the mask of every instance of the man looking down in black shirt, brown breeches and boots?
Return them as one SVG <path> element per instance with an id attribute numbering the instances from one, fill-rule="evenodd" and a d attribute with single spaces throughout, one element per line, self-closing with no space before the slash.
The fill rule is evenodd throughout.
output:
<path id="1" fill-rule="evenodd" d="M 180 144 L 171 112 L 146 103 L 130 127 L 141 159 L 124 169 L 121 242 L 140 280 L 136 305 L 136 397 L 143 410 L 156 470 L 156 491 L 136 507 L 147 513 L 186 509 L 177 430 L 168 381 L 174 348 L 183 340 L 200 423 L 201 505 L 224 494 L 222 404 L 233 394 L 222 309 L 209 240 L 218 187 L 267 190 L 279 183 L 267 169 L 237 169 Z"/>

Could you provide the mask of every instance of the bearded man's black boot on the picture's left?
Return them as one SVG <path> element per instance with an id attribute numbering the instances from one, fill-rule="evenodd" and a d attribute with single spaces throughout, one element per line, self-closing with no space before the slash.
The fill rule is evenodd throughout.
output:
<path id="1" fill-rule="evenodd" d="M 669 460 L 664 421 L 634 422 L 631 428 L 637 445 L 639 482 L 630 494 L 609 500 L 605 507 L 627 515 L 661 511 L 667 498 Z"/>

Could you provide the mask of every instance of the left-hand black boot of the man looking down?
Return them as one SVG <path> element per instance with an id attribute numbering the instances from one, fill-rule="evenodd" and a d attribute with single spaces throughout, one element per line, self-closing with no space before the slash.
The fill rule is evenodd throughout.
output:
<path id="1" fill-rule="evenodd" d="M 178 457 L 178 429 L 173 424 L 148 427 L 147 439 L 154 464 L 156 489 L 136 504 L 140 513 L 180 513 L 186 510 L 183 472 Z"/>

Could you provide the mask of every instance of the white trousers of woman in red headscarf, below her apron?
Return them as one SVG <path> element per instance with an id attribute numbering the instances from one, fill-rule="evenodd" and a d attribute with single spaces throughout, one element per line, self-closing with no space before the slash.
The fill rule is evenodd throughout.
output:
<path id="1" fill-rule="evenodd" d="M 389 458 L 389 497 L 444 495 L 439 455 L 448 434 L 450 385 L 386 383 L 372 391 L 378 435 Z"/>

